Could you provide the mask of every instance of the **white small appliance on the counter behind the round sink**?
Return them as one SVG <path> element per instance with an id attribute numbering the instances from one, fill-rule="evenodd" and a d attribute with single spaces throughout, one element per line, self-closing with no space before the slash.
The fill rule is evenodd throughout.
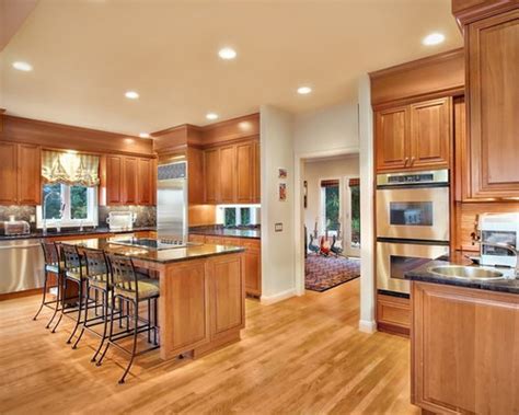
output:
<path id="1" fill-rule="evenodd" d="M 481 265 L 516 266 L 515 253 L 498 245 L 519 249 L 519 212 L 480 215 L 477 228 L 481 242 Z M 497 244 L 497 246 L 496 246 Z"/>

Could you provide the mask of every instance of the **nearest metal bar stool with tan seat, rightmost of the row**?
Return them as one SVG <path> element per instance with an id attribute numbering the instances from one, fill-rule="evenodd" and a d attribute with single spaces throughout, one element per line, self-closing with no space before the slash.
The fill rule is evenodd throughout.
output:
<path id="1" fill-rule="evenodd" d="M 126 367 L 123 377 L 119 379 L 119 383 L 125 382 L 125 378 L 128 374 L 134 359 L 136 356 L 142 355 L 147 351 L 153 350 L 160 347 L 157 343 L 157 300 L 159 299 L 159 280 L 145 278 L 139 276 L 139 273 L 136 272 L 134 262 L 131 258 L 123 255 L 107 255 L 108 263 L 112 270 L 112 283 L 114 286 L 113 297 L 112 297 L 112 318 L 109 321 L 109 334 L 108 343 L 103 351 L 103 355 L 100 358 L 97 365 L 101 365 L 106 351 L 108 350 L 109 345 L 117 347 L 118 349 L 129 354 L 130 360 Z M 134 330 L 131 333 L 123 332 L 114 334 L 114 311 L 115 311 L 115 301 L 119 299 L 123 302 L 126 302 L 127 306 L 132 306 L 134 315 Z M 143 301 L 148 302 L 148 321 L 143 325 L 139 325 L 139 304 Z M 153 307 L 152 307 L 153 306 Z M 153 309 L 153 312 L 152 312 Z M 129 307 L 127 307 L 129 313 Z M 151 343 L 151 332 L 153 332 L 153 343 L 152 347 L 137 351 L 137 335 L 139 333 L 148 333 L 148 343 Z M 131 350 L 123 347 L 116 342 L 120 338 L 128 337 L 132 335 L 134 344 Z"/>

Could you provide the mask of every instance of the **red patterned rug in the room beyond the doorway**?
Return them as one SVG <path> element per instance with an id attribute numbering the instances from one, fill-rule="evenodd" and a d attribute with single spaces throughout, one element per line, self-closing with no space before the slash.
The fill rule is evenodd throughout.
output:
<path id="1" fill-rule="evenodd" d="M 360 261 L 342 256 L 308 255 L 304 268 L 304 288 L 312 291 L 326 291 L 360 277 Z"/>

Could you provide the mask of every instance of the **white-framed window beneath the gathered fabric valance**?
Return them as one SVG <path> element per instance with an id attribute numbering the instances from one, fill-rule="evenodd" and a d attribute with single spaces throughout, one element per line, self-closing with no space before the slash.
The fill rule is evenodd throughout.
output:
<path id="1" fill-rule="evenodd" d="M 47 221 L 47 228 L 97 226 L 97 188 L 45 184 L 42 206 L 37 207 L 36 215 L 38 228 L 43 228 L 44 219 Z"/>

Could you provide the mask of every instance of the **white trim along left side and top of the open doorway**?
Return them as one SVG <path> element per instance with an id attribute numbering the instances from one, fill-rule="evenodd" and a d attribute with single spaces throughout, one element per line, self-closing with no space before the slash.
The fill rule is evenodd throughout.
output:
<path id="1" fill-rule="evenodd" d="M 296 270 L 296 292 L 298 296 L 304 295 L 304 214 L 303 214 L 303 181 L 305 159 L 358 154 L 358 147 L 344 147 L 334 150 L 321 150 L 302 152 L 295 154 L 293 162 L 293 239 L 295 239 L 295 270 Z"/>

